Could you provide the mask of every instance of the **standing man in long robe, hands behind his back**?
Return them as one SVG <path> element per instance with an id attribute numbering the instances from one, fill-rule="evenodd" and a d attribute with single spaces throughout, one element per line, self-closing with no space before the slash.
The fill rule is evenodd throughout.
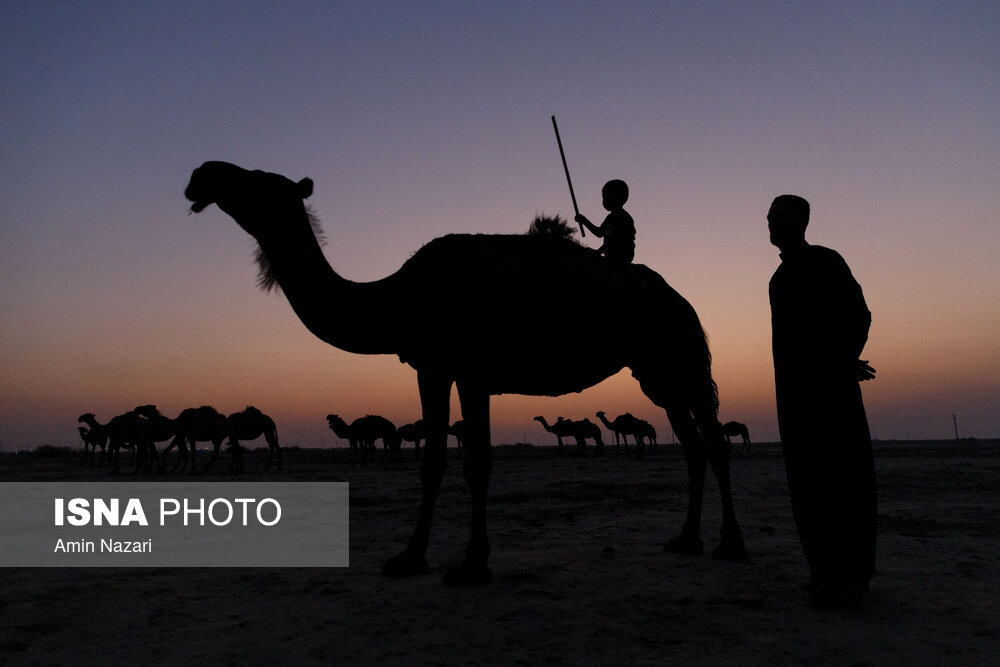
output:
<path id="1" fill-rule="evenodd" d="M 809 202 L 781 195 L 767 214 L 781 265 L 770 284 L 778 430 L 792 514 L 809 563 L 810 604 L 862 603 L 875 570 L 875 463 L 859 382 L 871 313 L 835 251 L 805 239 Z"/>

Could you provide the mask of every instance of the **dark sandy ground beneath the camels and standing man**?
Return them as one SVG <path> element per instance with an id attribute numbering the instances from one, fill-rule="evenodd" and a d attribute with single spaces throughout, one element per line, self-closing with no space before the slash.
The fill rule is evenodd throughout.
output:
<path id="1" fill-rule="evenodd" d="M 553 453 L 496 449 L 489 586 L 440 583 L 467 538 L 457 459 L 432 574 L 390 580 L 379 567 L 405 545 L 419 496 L 412 450 L 390 470 L 289 451 L 278 479 L 350 482 L 350 568 L 5 569 L 0 662 L 998 664 L 996 441 L 876 443 L 878 575 L 865 607 L 835 612 L 805 602 L 777 446 L 733 459 L 745 563 L 663 552 L 684 516 L 677 446 L 643 461 Z M 243 479 L 275 478 L 251 465 Z M 4 481 L 102 479 L 76 460 L 0 457 Z M 710 548 L 714 482 L 706 498 Z"/>

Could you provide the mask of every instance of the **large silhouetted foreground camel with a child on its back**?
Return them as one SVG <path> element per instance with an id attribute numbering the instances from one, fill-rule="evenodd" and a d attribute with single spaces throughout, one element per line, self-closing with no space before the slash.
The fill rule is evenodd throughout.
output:
<path id="1" fill-rule="evenodd" d="M 431 241 L 391 276 L 356 283 L 337 275 L 317 240 L 303 199 L 309 179 L 206 162 L 185 195 L 192 212 L 210 204 L 257 240 L 259 285 L 280 286 L 316 336 L 358 354 L 394 354 L 417 371 L 427 444 L 423 494 L 406 549 L 383 565 L 390 576 L 428 572 L 425 558 L 444 477 L 451 388 L 458 388 L 467 432 L 464 476 L 472 500 L 465 561 L 445 576 L 453 585 L 492 581 L 486 498 L 492 458 L 490 396 L 558 396 L 582 391 L 625 367 L 666 409 L 688 463 L 689 502 L 668 551 L 701 553 L 701 505 L 711 462 L 722 497 L 719 558 L 746 557 L 733 509 L 729 452 L 719 426 L 718 390 L 698 316 L 645 267 L 620 271 L 592 251 L 552 235 L 450 235 Z M 611 328 L 594 346 L 565 336 L 557 321 L 586 321 L 595 303 L 641 312 L 640 328 Z M 396 323 L 420 322 L 418 327 Z M 524 332 L 532 332 L 525 344 Z"/>

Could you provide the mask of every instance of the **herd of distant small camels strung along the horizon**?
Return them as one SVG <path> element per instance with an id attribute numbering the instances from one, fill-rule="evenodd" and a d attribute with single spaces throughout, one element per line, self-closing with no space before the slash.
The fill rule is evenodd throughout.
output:
<path id="1" fill-rule="evenodd" d="M 607 415 L 597 412 L 596 417 L 600 419 L 614 435 L 615 456 L 619 455 L 622 445 L 625 447 L 625 456 L 629 454 L 628 437 L 632 436 L 635 446 L 636 458 L 642 458 L 648 452 L 655 451 L 657 447 L 656 429 L 644 419 L 639 419 L 631 413 L 618 415 L 614 420 L 608 420 Z M 219 456 L 219 449 L 223 442 L 228 442 L 232 460 L 230 471 L 235 473 L 243 472 L 243 447 L 240 441 L 255 440 L 264 437 L 268 445 L 267 463 L 264 470 L 271 468 L 271 463 L 277 455 L 276 467 L 281 469 L 281 447 L 278 444 L 278 431 L 274 420 L 253 406 L 248 406 L 241 412 L 231 415 L 223 415 L 215 408 L 202 406 L 200 408 L 188 408 L 182 411 L 177 417 L 171 419 L 160 414 L 155 405 L 140 405 L 134 410 L 113 417 L 108 423 L 101 424 L 93 413 L 80 415 L 78 420 L 86 426 L 78 426 L 80 437 L 83 440 L 83 460 L 81 465 L 104 466 L 110 465 L 111 472 L 117 474 L 120 471 L 120 452 L 122 449 L 131 450 L 134 454 L 135 472 L 152 472 L 154 466 L 157 471 L 166 470 L 167 455 L 174 448 L 177 449 L 177 460 L 171 472 L 180 469 L 181 472 L 188 470 L 195 472 L 195 453 L 197 443 L 211 442 L 212 456 L 202 468 L 201 472 L 208 471 Z M 374 455 L 376 441 L 382 441 L 382 457 L 379 459 L 379 466 L 388 466 L 400 457 L 400 448 L 403 441 L 412 442 L 417 460 L 420 460 L 420 444 L 426 439 L 424 432 L 424 422 L 422 419 L 405 424 L 396 428 L 395 424 L 378 415 L 366 415 L 347 423 L 338 415 L 329 414 L 326 421 L 330 430 L 343 440 L 347 440 L 350 445 L 350 463 L 356 465 L 368 462 L 369 455 Z M 563 439 L 567 438 L 576 443 L 576 451 L 583 454 L 587 440 L 593 440 L 596 453 L 604 453 L 604 439 L 601 436 L 600 427 L 589 419 L 572 420 L 564 417 L 556 418 L 556 421 L 549 424 L 545 417 L 535 417 L 534 421 L 539 422 L 549 433 L 556 436 L 558 452 L 563 453 Z M 750 434 L 745 424 L 740 422 L 726 422 L 722 424 L 723 433 L 732 445 L 731 438 L 740 437 L 742 439 L 743 450 L 750 449 Z M 465 422 L 458 420 L 448 428 L 448 434 L 455 437 L 458 444 L 459 456 L 462 455 L 462 440 L 465 436 Z M 158 452 L 156 443 L 169 442 L 167 447 Z M 100 458 L 97 458 L 97 449 L 100 448 Z M 96 459 L 96 460 L 95 460 Z"/>

